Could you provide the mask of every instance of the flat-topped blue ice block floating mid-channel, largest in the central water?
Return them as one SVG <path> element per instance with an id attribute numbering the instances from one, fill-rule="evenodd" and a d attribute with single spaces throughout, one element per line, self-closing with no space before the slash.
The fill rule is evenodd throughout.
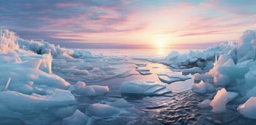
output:
<path id="1" fill-rule="evenodd" d="M 121 83 L 121 93 L 158 95 L 157 92 L 162 89 L 166 89 L 165 84 L 156 81 L 126 81 Z"/>

